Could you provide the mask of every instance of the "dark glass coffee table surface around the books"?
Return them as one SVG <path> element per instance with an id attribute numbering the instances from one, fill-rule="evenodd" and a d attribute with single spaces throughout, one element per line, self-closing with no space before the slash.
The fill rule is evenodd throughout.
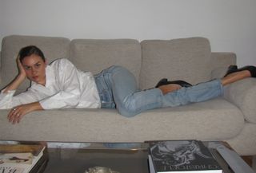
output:
<path id="1" fill-rule="evenodd" d="M 2 142 L 6 143 L 6 141 Z M 14 143 L 23 142 L 14 141 Z M 224 173 L 255 173 L 225 142 L 203 143 L 210 148 Z M 149 144 L 146 142 L 137 144 L 46 142 L 46 144 L 47 151 L 44 155 L 46 161 L 38 163 L 38 167 L 34 167 L 34 171 L 30 173 L 106 173 L 106 171 L 93 171 L 96 168 L 110 169 L 110 173 L 150 173 Z"/>

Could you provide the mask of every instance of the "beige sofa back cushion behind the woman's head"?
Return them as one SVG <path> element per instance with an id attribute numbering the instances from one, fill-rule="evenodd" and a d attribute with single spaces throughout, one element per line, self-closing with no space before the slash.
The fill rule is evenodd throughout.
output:
<path id="1" fill-rule="evenodd" d="M 64 37 L 34 37 L 11 35 L 2 39 L 1 52 L 1 88 L 8 85 L 18 74 L 16 58 L 22 47 L 36 45 L 42 49 L 46 61 L 51 62 L 61 57 L 70 57 L 70 40 Z M 26 90 L 30 82 L 26 80 L 17 92 Z"/>

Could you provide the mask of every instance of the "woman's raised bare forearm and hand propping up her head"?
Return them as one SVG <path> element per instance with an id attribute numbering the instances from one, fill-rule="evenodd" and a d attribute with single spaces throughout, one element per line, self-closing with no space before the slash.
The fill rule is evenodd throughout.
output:
<path id="1" fill-rule="evenodd" d="M 17 65 L 18 65 L 18 75 L 14 78 L 13 81 L 10 82 L 9 85 L 4 89 L 3 93 L 6 93 L 11 90 L 16 90 L 19 85 L 22 84 L 22 82 L 26 79 L 26 72 L 22 66 L 21 61 L 19 61 L 19 58 L 17 58 Z"/>

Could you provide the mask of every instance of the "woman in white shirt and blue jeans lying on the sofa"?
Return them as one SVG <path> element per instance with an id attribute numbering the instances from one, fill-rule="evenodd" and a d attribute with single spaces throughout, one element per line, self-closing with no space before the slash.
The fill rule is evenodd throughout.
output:
<path id="1" fill-rule="evenodd" d="M 19 123 L 29 112 L 54 108 L 117 108 L 122 116 L 135 116 L 149 109 L 174 107 L 222 96 L 223 86 L 246 77 L 256 77 L 256 67 L 232 66 L 222 79 L 190 86 L 185 81 L 165 81 L 156 88 L 139 90 L 135 77 L 121 66 L 112 66 L 93 76 L 77 69 L 67 59 L 50 65 L 40 49 L 26 46 L 19 52 L 18 76 L 0 94 L 0 108 L 11 108 L 10 123 Z M 14 96 L 26 79 L 26 92 Z"/>

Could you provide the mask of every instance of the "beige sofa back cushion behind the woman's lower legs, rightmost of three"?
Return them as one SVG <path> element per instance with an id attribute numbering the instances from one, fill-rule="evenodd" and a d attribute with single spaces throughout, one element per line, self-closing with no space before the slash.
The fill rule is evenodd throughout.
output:
<path id="1" fill-rule="evenodd" d="M 206 38 L 146 40 L 141 45 L 142 89 L 154 87 L 161 78 L 192 84 L 210 80 L 210 42 Z"/>

